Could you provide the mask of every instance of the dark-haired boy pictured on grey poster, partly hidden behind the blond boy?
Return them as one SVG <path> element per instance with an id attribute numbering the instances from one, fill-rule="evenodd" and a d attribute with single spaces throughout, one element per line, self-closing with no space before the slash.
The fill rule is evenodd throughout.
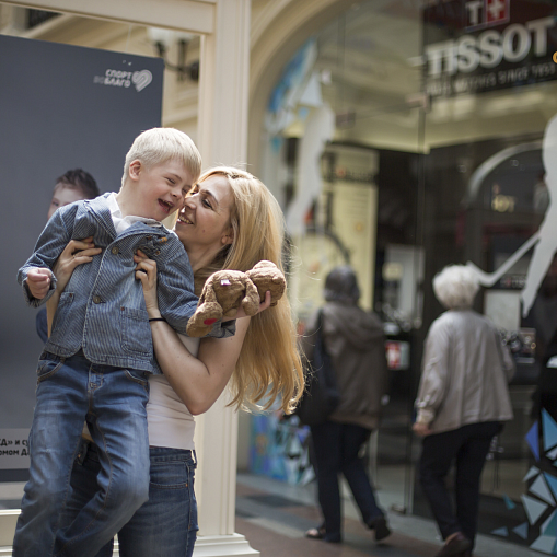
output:
<path id="1" fill-rule="evenodd" d="M 48 206 L 47 219 L 50 219 L 59 207 L 65 207 L 82 199 L 94 199 L 100 195 L 101 192 L 98 192 L 95 178 L 89 172 L 82 169 L 68 171 L 56 181 L 53 199 L 50 199 L 50 205 Z M 48 340 L 48 325 L 45 307 L 38 310 L 35 326 L 40 340 L 46 343 Z"/>

